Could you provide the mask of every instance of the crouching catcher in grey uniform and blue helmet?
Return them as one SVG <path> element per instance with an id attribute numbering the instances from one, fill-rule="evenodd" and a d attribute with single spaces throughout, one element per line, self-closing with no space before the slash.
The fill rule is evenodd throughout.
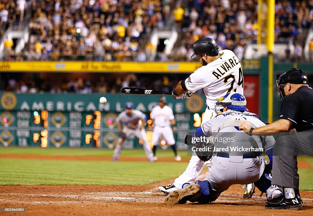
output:
<path id="1" fill-rule="evenodd" d="M 260 156 L 263 151 L 272 153 L 269 150 L 273 148 L 275 139 L 273 136 L 249 136 L 238 127 L 241 119 L 253 127 L 265 124 L 258 115 L 248 112 L 246 99 L 240 93 L 227 93 L 217 105 L 223 106 L 223 113 L 205 122 L 192 134 L 194 151 L 201 152 L 203 147 L 214 144 L 210 150 L 205 150 L 213 154 L 206 177 L 203 181 L 170 193 L 165 203 L 182 204 L 187 200 L 211 203 L 229 186 L 251 182 L 268 198 L 281 194 L 277 186 L 271 185 L 270 163 Z M 212 143 L 197 142 L 195 138 L 211 138 Z"/>

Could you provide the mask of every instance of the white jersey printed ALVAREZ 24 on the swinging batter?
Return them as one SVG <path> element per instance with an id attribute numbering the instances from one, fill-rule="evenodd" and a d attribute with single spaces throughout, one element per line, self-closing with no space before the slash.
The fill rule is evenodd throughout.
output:
<path id="1" fill-rule="evenodd" d="M 226 93 L 232 90 L 244 93 L 244 77 L 239 59 L 228 49 L 220 53 L 217 59 L 198 68 L 185 80 L 186 88 L 192 93 L 203 88 L 206 103 L 212 111 L 217 99 Z"/>

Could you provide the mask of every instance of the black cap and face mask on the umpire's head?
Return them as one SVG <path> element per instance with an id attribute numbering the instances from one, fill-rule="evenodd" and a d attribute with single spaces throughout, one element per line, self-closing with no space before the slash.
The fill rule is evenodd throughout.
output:
<path id="1" fill-rule="evenodd" d="M 284 88 L 287 83 L 308 84 L 308 77 L 303 70 L 298 68 L 292 68 L 286 73 L 281 74 L 276 80 L 276 86 L 279 91 L 280 99 L 283 99 L 286 96 Z"/>

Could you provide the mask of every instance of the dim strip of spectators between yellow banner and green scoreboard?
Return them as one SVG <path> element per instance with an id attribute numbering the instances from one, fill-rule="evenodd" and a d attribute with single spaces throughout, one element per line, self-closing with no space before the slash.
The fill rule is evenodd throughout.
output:
<path id="1" fill-rule="evenodd" d="M 148 88 L 157 91 L 170 92 L 180 79 L 187 75 L 177 76 L 160 74 L 116 74 L 90 75 L 88 78 L 73 76 L 55 79 L 55 74 L 45 78 L 14 76 L 3 78 L 6 80 L 1 86 L 1 91 L 16 93 L 119 93 L 123 87 Z M 18 77 L 18 78 L 17 78 Z"/>

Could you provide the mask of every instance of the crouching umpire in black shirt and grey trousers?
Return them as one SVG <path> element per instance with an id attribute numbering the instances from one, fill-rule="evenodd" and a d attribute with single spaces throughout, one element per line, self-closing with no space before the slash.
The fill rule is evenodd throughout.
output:
<path id="1" fill-rule="evenodd" d="M 246 121 L 239 123 L 239 129 L 250 136 L 297 131 L 275 142 L 272 184 L 282 187 L 282 194 L 268 198 L 265 208 L 302 209 L 297 156 L 313 156 L 313 89 L 307 83 L 303 70 L 292 68 L 283 73 L 276 80 L 282 99 L 279 120 L 260 128 L 251 128 Z"/>

